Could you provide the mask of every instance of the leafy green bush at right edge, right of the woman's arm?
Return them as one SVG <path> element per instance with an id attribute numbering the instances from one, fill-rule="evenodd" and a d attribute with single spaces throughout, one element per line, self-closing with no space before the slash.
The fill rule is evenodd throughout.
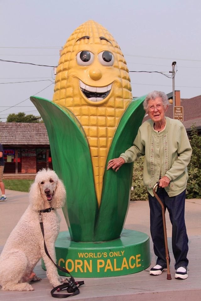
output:
<path id="1" fill-rule="evenodd" d="M 193 149 L 188 165 L 187 198 L 201 198 L 201 135 L 195 125 L 191 127 L 190 143 Z"/>

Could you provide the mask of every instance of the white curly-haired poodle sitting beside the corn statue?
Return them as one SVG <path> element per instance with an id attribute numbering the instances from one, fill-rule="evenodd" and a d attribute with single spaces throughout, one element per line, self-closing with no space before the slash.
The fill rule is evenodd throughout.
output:
<path id="1" fill-rule="evenodd" d="M 47 250 L 54 262 L 55 240 L 59 233 L 60 216 L 57 208 L 64 205 L 66 191 L 57 174 L 48 169 L 39 171 L 30 187 L 30 205 L 11 232 L 0 256 L 0 285 L 3 290 L 32 291 L 30 281 L 41 280 L 33 269 L 43 258 L 47 277 L 56 287 L 65 281 L 44 250 L 44 241 L 39 223 L 41 210 Z M 50 212 L 43 212 L 50 208 Z M 53 209 L 52 209 L 53 208 Z"/>

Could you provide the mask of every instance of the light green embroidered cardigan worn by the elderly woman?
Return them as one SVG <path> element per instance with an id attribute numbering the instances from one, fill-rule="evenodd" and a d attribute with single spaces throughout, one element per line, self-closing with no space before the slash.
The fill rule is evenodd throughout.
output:
<path id="1" fill-rule="evenodd" d="M 170 197 L 181 193 L 187 186 L 187 165 L 192 148 L 186 129 L 179 120 L 166 117 L 165 128 L 158 132 L 151 119 L 145 121 L 131 146 L 122 157 L 126 163 L 144 156 L 143 181 L 148 192 L 153 194 L 153 186 L 160 177 L 166 176 L 170 184 L 166 192 Z"/>

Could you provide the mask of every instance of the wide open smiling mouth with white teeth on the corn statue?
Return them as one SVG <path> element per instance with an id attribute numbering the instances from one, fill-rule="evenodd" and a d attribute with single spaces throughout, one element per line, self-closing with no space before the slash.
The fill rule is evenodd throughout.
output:
<path id="1" fill-rule="evenodd" d="M 90 87 L 79 80 L 79 86 L 83 94 L 92 102 L 100 102 L 108 96 L 111 91 L 112 84 L 105 87 Z"/>

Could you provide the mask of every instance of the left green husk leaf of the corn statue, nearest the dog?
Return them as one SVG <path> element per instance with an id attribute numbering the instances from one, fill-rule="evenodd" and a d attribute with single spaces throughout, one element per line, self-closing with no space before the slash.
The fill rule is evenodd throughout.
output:
<path id="1" fill-rule="evenodd" d="M 53 168 L 66 187 L 63 213 L 71 239 L 93 241 L 98 204 L 85 133 L 67 108 L 44 98 L 31 97 L 30 100 L 46 125 Z"/>

